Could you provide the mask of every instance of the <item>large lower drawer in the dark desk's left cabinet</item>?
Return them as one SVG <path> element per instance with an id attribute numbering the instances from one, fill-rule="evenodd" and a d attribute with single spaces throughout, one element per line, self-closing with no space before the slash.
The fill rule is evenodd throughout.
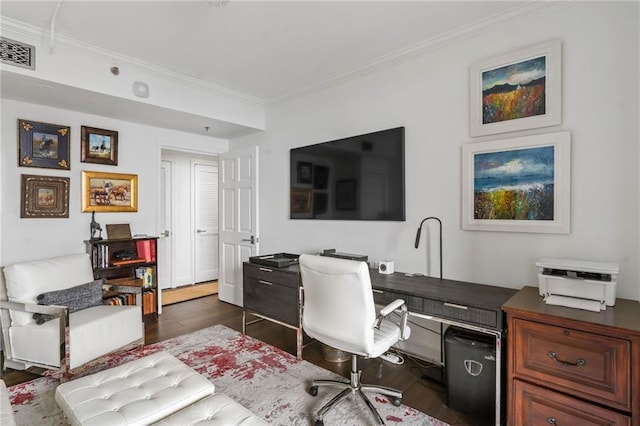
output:
<path id="1" fill-rule="evenodd" d="M 244 278 L 244 307 L 298 327 L 299 289 L 255 278 Z"/>

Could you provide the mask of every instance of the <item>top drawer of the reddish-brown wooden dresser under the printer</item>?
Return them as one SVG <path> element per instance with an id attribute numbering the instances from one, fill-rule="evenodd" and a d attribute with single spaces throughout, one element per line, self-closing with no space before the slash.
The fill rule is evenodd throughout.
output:
<path id="1" fill-rule="evenodd" d="M 513 372 L 553 390 L 631 409 L 630 343 L 565 327 L 515 319 Z"/>

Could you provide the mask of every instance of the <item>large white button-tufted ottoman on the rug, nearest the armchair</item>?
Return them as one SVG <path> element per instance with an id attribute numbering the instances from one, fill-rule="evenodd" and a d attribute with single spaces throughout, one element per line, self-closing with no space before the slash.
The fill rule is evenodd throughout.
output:
<path id="1" fill-rule="evenodd" d="M 56 403 L 72 425 L 150 424 L 214 392 L 204 376 L 158 352 L 58 386 Z"/>

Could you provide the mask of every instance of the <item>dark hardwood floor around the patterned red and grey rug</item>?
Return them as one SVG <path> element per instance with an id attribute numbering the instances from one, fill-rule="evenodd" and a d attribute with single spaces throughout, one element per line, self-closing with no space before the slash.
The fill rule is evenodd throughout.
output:
<path id="1" fill-rule="evenodd" d="M 163 313 L 157 321 L 145 325 L 147 344 L 191 333 L 215 324 L 223 324 L 234 330 L 242 331 L 242 309 L 220 302 L 217 296 L 176 303 L 163 307 Z M 293 330 L 269 321 L 247 327 L 247 334 L 291 354 L 296 351 L 296 336 Z M 327 370 L 344 377 L 349 376 L 350 361 L 329 362 L 322 357 L 322 347 L 318 342 L 308 343 L 303 358 Z M 381 379 L 376 377 L 380 362 L 378 360 L 358 361 L 362 369 L 362 381 L 368 384 L 382 384 L 403 391 L 403 403 L 451 425 L 476 425 L 472 418 L 451 410 L 446 404 L 446 391 L 440 383 L 425 379 L 429 366 L 418 360 L 407 358 L 402 365 L 383 364 Z M 7 369 L 2 378 L 7 386 L 22 383 L 37 377 L 35 374 Z M 320 379 L 321 377 L 319 377 Z M 327 390 L 328 391 L 328 390 Z"/>

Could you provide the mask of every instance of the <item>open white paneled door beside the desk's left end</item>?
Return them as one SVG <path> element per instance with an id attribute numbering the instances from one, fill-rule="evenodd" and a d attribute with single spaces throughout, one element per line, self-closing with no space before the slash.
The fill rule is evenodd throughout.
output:
<path id="1" fill-rule="evenodd" d="M 243 306 L 242 262 L 260 253 L 258 147 L 220 155 L 220 300 Z"/>

